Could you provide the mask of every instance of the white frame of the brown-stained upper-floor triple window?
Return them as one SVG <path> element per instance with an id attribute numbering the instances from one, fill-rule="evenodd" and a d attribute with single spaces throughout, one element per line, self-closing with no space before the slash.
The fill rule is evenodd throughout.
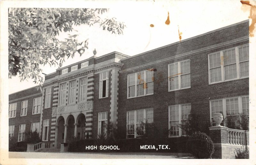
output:
<path id="1" fill-rule="evenodd" d="M 152 95 L 152 94 L 154 94 L 154 71 L 151 71 L 152 69 L 148 69 L 148 70 L 144 70 L 144 71 L 139 71 L 139 72 L 136 72 L 136 73 L 131 73 L 131 74 L 128 74 L 127 75 L 127 99 L 130 99 L 130 98 L 135 98 L 135 97 L 141 97 L 141 96 L 147 96 L 147 95 Z M 151 80 L 152 81 L 148 81 L 147 82 L 147 71 L 151 71 L 152 73 L 152 78 L 151 78 Z M 138 80 L 138 74 L 140 73 L 140 72 L 144 72 L 144 76 L 143 76 L 143 78 L 140 78 L 141 80 L 141 83 L 137 83 L 137 80 Z M 132 97 L 129 97 L 129 76 L 133 76 L 134 77 L 134 83 L 135 83 L 135 85 L 132 85 L 132 86 L 135 86 L 135 89 L 134 89 L 134 91 L 135 91 L 135 94 L 134 94 L 134 96 L 132 96 Z M 153 93 L 149 93 L 149 94 L 147 94 L 147 83 L 151 83 L 151 82 L 153 82 Z M 144 94 L 143 95 L 138 95 L 138 85 L 141 85 L 141 84 L 143 84 L 143 89 L 144 89 Z M 146 86 L 146 87 L 145 87 Z"/>

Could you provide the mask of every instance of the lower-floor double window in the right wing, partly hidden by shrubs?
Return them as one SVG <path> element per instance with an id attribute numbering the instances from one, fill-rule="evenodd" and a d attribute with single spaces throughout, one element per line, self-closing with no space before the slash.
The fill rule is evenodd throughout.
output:
<path id="1" fill-rule="evenodd" d="M 191 120 L 191 104 L 179 104 L 169 106 L 169 132 L 170 137 L 187 135 L 187 124 Z"/>

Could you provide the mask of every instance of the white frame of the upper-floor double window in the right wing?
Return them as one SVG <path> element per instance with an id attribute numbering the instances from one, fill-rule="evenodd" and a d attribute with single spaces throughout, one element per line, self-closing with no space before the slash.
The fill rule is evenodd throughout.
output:
<path id="1" fill-rule="evenodd" d="M 186 59 L 186 60 L 182 60 L 182 61 L 178 61 L 178 62 L 175 62 L 175 63 L 171 63 L 171 64 L 168 64 L 168 92 L 171 92 L 171 91 L 176 91 L 176 90 L 180 90 L 180 89 L 187 89 L 187 88 L 191 88 L 191 76 L 190 76 L 190 86 L 188 87 L 181 87 L 181 76 L 183 74 L 181 74 L 181 67 L 180 67 L 180 63 L 181 62 L 184 62 L 184 61 L 189 61 L 190 63 L 190 59 Z M 170 65 L 172 64 L 178 64 L 178 74 L 175 75 L 175 76 L 170 76 Z M 189 65 L 190 66 L 190 65 Z M 191 67 L 190 67 L 191 68 Z M 191 69 L 190 69 L 190 72 L 189 73 L 186 73 L 184 75 L 187 75 L 187 74 L 191 74 Z M 171 87 L 170 87 L 170 78 L 172 77 L 177 77 L 178 76 L 178 81 L 179 81 L 179 88 L 178 89 L 172 89 L 171 90 Z"/>

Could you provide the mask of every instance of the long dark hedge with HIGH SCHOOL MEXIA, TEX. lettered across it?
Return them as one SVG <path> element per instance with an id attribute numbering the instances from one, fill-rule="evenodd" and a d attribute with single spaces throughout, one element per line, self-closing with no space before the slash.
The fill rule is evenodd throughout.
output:
<path id="1" fill-rule="evenodd" d="M 177 138 L 138 138 L 138 139 L 83 139 L 73 141 L 69 144 L 69 152 L 169 152 L 169 153 L 188 153 L 188 137 Z M 140 149 L 140 146 L 155 146 L 156 149 Z M 170 149 L 159 149 L 158 145 L 168 145 Z M 96 149 L 86 149 L 85 146 L 97 146 Z M 100 150 L 100 146 L 118 146 L 120 150 Z"/>

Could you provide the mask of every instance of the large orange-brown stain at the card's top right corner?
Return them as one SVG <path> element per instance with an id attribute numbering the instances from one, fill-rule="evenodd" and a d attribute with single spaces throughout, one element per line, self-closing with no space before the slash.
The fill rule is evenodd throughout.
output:
<path id="1" fill-rule="evenodd" d="M 250 37 L 253 37 L 254 36 L 253 31 L 255 29 L 255 24 L 256 24 L 256 5 L 252 5 L 250 3 L 250 1 L 240 1 L 240 2 L 242 3 L 242 5 L 246 5 L 246 6 L 250 6 L 251 7 L 249 18 L 252 19 L 252 23 L 249 26 L 249 35 L 250 35 Z"/>

